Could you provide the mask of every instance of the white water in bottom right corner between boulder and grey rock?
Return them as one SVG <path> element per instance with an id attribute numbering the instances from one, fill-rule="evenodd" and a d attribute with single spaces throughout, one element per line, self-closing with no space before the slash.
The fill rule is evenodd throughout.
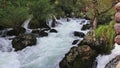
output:
<path id="1" fill-rule="evenodd" d="M 110 55 L 99 55 L 97 57 L 97 68 L 105 68 L 105 65 L 118 55 L 120 55 L 120 45 L 115 44 L 115 48 Z"/>

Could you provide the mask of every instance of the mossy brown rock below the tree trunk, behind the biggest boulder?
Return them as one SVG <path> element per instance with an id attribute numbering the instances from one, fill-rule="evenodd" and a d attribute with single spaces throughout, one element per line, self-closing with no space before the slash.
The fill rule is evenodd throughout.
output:
<path id="1" fill-rule="evenodd" d="M 113 46 L 110 46 L 110 43 L 105 38 L 96 38 L 93 35 L 93 31 L 88 32 L 78 46 L 89 45 L 93 50 L 96 51 L 96 54 L 109 54 L 113 49 Z"/>

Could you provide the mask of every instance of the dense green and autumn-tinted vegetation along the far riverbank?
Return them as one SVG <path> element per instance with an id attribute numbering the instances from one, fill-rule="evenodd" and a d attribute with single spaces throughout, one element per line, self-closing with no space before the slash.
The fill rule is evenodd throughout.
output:
<path id="1" fill-rule="evenodd" d="M 31 27 L 44 27 L 46 19 L 52 16 L 91 20 L 97 17 L 98 23 L 107 23 L 114 14 L 109 11 L 114 3 L 114 0 L 0 0 L 0 26 L 18 27 L 29 15 L 33 15 Z"/>

